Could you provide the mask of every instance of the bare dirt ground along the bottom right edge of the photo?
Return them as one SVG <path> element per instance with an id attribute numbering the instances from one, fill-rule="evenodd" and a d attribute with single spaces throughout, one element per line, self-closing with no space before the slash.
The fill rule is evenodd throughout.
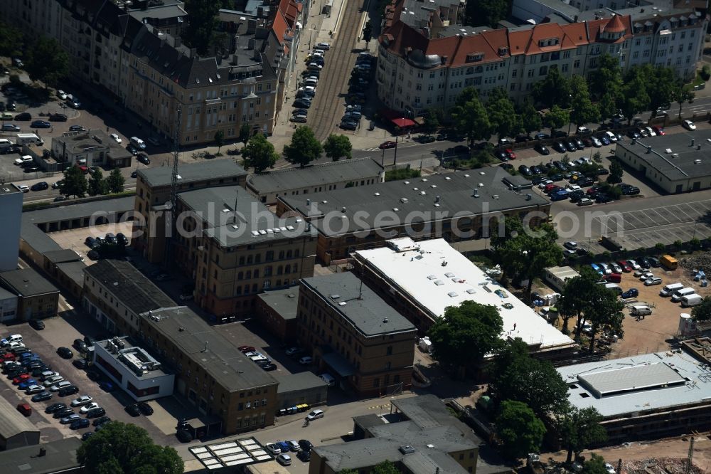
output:
<path id="1" fill-rule="evenodd" d="M 707 433 L 708 435 L 708 433 Z M 673 458 L 685 460 L 689 453 L 690 438 L 668 438 L 646 443 L 629 443 L 622 446 L 609 446 L 582 453 L 589 458 L 590 453 L 601 455 L 608 463 L 617 467 L 617 461 L 622 460 L 622 473 L 629 472 L 629 461 Z M 565 451 L 542 454 L 541 460 L 565 460 Z M 661 465 L 662 463 L 660 463 Z M 678 464 L 678 463 L 675 463 Z M 711 440 L 709 436 L 695 436 L 693 464 L 702 473 L 711 473 Z M 683 471 L 682 471 L 683 472 Z"/>

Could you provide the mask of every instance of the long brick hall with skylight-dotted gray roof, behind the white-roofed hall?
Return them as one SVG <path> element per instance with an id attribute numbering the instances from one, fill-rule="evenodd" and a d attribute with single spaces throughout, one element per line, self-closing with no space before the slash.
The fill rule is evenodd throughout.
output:
<path id="1" fill-rule="evenodd" d="M 550 201 L 510 189 L 508 177 L 494 167 L 280 196 L 277 214 L 301 216 L 317 229 L 316 256 L 326 264 L 399 236 L 468 241 L 486 238 L 504 218 L 527 219 L 531 226 L 547 220 Z"/>

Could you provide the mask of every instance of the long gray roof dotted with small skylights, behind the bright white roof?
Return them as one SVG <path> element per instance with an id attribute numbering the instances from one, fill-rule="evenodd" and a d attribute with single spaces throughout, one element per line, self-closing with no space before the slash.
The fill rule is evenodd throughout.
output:
<path id="1" fill-rule="evenodd" d="M 483 168 L 279 200 L 311 218 L 326 236 L 550 204 L 538 194 L 511 191 L 506 177 L 505 169 Z"/>

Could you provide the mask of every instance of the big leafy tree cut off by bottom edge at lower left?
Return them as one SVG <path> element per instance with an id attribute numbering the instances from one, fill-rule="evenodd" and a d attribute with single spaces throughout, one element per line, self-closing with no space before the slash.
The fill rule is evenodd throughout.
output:
<path id="1" fill-rule="evenodd" d="M 179 474 L 184 464 L 175 449 L 153 443 L 148 432 L 111 421 L 77 450 L 87 473 Z"/>

